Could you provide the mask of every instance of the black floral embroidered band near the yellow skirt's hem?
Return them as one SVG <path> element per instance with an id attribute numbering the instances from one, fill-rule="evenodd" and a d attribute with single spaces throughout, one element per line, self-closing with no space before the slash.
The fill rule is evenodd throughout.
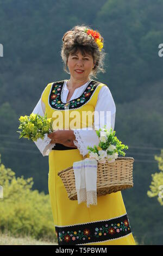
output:
<path id="1" fill-rule="evenodd" d="M 126 215 L 108 221 L 91 222 L 70 227 L 55 227 L 59 245 L 80 245 L 117 239 L 131 233 Z"/>

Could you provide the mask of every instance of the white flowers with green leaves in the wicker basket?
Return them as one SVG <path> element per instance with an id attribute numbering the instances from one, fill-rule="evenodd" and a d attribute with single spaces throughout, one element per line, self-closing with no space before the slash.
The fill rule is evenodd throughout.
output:
<path id="1" fill-rule="evenodd" d="M 106 125 L 103 129 L 96 131 L 99 137 L 98 147 L 94 145 L 93 148 L 87 147 L 89 149 L 90 158 L 95 158 L 99 163 L 105 163 L 107 160 L 112 163 L 117 159 L 118 154 L 125 156 L 126 153 L 123 152 L 124 149 L 128 149 L 127 145 L 122 144 L 121 141 L 115 136 L 115 131 L 112 128 L 108 131 Z"/>

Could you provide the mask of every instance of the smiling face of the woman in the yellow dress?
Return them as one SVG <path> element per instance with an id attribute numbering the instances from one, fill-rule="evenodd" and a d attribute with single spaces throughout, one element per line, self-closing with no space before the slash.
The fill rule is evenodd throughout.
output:
<path id="1" fill-rule="evenodd" d="M 71 76 L 76 80 L 87 80 L 95 64 L 92 55 L 85 53 L 83 56 L 80 51 L 70 54 L 67 60 L 67 66 Z M 76 70 L 83 70 L 79 73 Z"/>

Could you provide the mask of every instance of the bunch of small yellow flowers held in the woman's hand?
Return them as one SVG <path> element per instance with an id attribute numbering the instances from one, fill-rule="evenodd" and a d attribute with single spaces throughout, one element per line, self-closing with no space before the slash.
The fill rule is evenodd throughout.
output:
<path id="1" fill-rule="evenodd" d="M 37 141 L 37 139 L 41 138 L 43 139 L 45 136 L 45 133 L 51 133 L 52 130 L 52 119 L 47 118 L 47 113 L 44 117 L 41 117 L 39 114 L 30 114 L 24 115 L 24 117 L 21 115 L 21 117 L 18 119 L 20 121 L 20 126 L 18 129 L 22 131 L 17 131 L 20 133 L 20 138 L 28 138 L 32 141 Z"/>

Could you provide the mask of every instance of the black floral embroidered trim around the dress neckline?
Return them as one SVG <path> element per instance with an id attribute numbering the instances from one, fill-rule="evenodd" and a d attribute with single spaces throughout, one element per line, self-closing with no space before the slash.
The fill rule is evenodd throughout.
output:
<path id="1" fill-rule="evenodd" d="M 51 106 L 53 109 L 65 110 L 66 107 L 68 107 L 68 109 L 76 109 L 76 108 L 82 107 L 91 99 L 97 86 L 100 84 L 99 82 L 97 82 L 95 80 L 91 80 L 88 83 L 88 85 L 85 88 L 82 95 L 80 95 L 77 99 L 74 99 L 74 100 L 68 101 L 67 103 L 64 103 L 61 100 L 61 93 L 62 93 L 62 88 L 64 86 L 64 82 L 65 82 L 65 80 L 59 81 L 59 82 L 54 82 L 52 84 L 51 92 L 49 94 L 48 103 L 49 103 L 49 106 Z"/>

